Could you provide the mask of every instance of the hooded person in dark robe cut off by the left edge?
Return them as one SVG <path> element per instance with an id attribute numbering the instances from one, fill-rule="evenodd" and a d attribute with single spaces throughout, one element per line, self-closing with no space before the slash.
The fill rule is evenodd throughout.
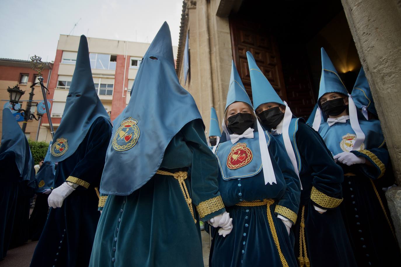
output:
<path id="1" fill-rule="evenodd" d="M 6 256 L 10 244 L 16 247 L 28 240 L 29 193 L 33 193 L 35 186 L 28 141 L 8 108 L 3 109 L 2 119 L 0 260 Z"/>

